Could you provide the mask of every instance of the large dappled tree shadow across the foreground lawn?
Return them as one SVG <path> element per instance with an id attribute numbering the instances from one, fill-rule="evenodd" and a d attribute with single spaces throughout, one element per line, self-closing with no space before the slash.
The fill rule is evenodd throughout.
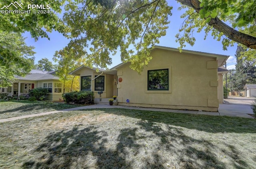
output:
<path id="1" fill-rule="evenodd" d="M 181 168 L 219 168 L 224 169 L 224 164 L 217 160 L 216 155 L 210 151 L 200 151 L 191 147 L 195 141 L 204 142 L 206 148 L 214 145 L 207 141 L 195 140 L 184 136 L 180 130 L 169 128 L 168 132 L 163 132 L 160 127 L 154 126 L 154 123 L 139 122 L 138 125 L 147 131 L 154 131 L 160 137 L 161 143 L 152 147 L 150 152 L 144 151 L 146 143 L 136 143 L 141 137 L 136 134 L 138 128 L 126 128 L 120 130 L 115 147 L 107 147 L 108 132 L 97 131 L 92 126 L 78 130 L 62 130 L 46 137 L 35 153 L 40 154 L 38 159 L 30 160 L 22 165 L 24 169 L 30 168 L 167 168 L 168 152 L 178 155 L 179 167 Z M 152 125 L 152 128 L 150 127 Z M 167 136 L 173 140 L 168 141 Z M 182 145 L 182 149 L 177 149 L 174 144 Z M 162 149 L 166 154 L 159 153 Z M 146 151 L 147 152 L 147 151 Z M 200 163 L 196 162 L 200 160 Z"/>

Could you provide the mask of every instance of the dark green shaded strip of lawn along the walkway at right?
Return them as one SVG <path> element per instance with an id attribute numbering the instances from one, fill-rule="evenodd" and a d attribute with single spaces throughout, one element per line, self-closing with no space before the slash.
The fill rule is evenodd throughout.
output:
<path id="1" fill-rule="evenodd" d="M 147 110 L 101 109 L 106 113 L 141 119 L 154 123 L 195 129 L 209 133 L 256 133 L 256 120 L 229 116 L 211 116 L 200 114 L 183 114 L 155 112 Z"/>

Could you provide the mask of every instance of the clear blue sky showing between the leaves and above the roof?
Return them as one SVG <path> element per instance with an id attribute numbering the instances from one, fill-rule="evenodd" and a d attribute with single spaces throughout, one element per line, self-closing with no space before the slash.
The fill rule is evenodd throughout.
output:
<path id="1" fill-rule="evenodd" d="M 184 22 L 183 18 L 180 18 L 182 11 L 178 11 L 178 4 L 175 0 L 170 0 L 168 3 L 173 6 L 172 9 L 172 16 L 170 16 L 170 24 L 168 25 L 169 28 L 167 29 L 166 35 L 160 38 L 160 43 L 157 45 L 165 46 L 165 47 L 179 47 L 179 44 L 175 42 L 176 40 L 176 33 L 178 33 L 178 29 L 180 28 L 182 22 Z M 62 34 L 54 31 L 52 33 L 48 33 L 50 37 L 50 41 L 46 38 L 39 38 L 38 41 L 35 42 L 33 38 L 31 38 L 30 33 L 26 32 L 23 34 L 24 37 L 27 37 L 26 43 L 27 45 L 32 45 L 35 47 L 34 51 L 36 54 L 35 57 L 35 64 L 42 58 L 48 58 L 52 61 L 52 57 L 55 51 L 58 51 L 65 47 L 69 40 L 66 39 Z M 236 45 L 233 47 L 228 47 L 227 51 L 222 50 L 222 43 L 221 41 L 216 41 L 213 39 L 211 35 L 208 35 L 206 40 L 204 40 L 204 32 L 201 33 L 194 33 L 194 37 L 196 38 L 196 42 L 194 46 L 186 45 L 184 49 L 192 50 L 192 51 L 201 51 L 207 53 L 215 53 L 221 55 L 229 55 L 229 59 L 227 61 L 227 69 L 235 69 L 236 64 Z M 109 68 L 114 67 L 121 63 L 120 56 L 117 55 L 111 56 L 112 57 L 112 65 L 108 66 Z"/>

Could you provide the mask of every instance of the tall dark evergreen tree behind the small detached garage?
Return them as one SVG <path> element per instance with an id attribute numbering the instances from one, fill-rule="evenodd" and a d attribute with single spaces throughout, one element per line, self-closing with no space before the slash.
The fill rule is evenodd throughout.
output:
<path id="1" fill-rule="evenodd" d="M 255 60 L 248 61 L 245 58 L 241 58 L 241 52 L 244 51 L 240 46 L 236 49 L 236 72 L 230 83 L 232 90 L 243 90 L 245 84 L 256 83 Z"/>

